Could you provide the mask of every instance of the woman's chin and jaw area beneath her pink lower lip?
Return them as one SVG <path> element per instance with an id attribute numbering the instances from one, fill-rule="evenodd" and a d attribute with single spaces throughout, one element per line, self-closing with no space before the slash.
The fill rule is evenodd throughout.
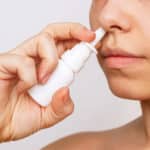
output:
<path id="1" fill-rule="evenodd" d="M 104 68 L 104 73 L 114 95 L 134 100 L 150 99 L 150 64 L 143 64 L 142 69 L 138 67 L 120 70 Z"/>

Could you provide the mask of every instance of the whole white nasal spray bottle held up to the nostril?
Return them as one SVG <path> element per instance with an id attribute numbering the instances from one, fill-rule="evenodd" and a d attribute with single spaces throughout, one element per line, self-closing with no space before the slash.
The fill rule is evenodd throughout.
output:
<path id="1" fill-rule="evenodd" d="M 70 86 L 78 73 L 85 65 L 89 56 L 94 52 L 96 44 L 102 39 L 105 32 L 98 29 L 96 38 L 91 43 L 81 42 L 71 50 L 67 50 L 59 59 L 58 65 L 44 85 L 36 85 L 29 90 L 30 96 L 41 106 L 47 106 L 52 100 L 54 93 L 62 88 Z"/>

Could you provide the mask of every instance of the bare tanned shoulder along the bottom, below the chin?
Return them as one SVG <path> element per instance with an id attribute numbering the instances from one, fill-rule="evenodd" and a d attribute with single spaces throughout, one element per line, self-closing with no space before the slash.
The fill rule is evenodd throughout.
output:
<path id="1" fill-rule="evenodd" d="M 101 132 L 84 132 L 67 136 L 49 144 L 42 150 L 105 150 L 128 145 L 131 141 L 139 143 L 141 119 L 134 120 L 122 127 Z"/>

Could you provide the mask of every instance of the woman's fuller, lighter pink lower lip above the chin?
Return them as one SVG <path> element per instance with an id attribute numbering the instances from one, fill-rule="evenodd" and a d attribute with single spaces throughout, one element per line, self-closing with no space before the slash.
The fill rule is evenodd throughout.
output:
<path id="1" fill-rule="evenodd" d="M 125 57 L 125 56 L 111 56 L 104 58 L 104 65 L 109 68 L 125 68 L 129 65 L 140 63 L 143 58 L 140 57 Z"/>

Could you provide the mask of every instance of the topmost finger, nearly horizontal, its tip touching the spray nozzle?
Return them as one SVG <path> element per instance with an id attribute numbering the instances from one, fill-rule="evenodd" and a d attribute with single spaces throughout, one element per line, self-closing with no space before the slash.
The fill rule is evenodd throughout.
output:
<path id="1" fill-rule="evenodd" d="M 90 42 L 95 38 L 94 32 L 79 23 L 54 23 L 48 25 L 43 32 L 49 33 L 56 40 L 76 39 Z"/>

